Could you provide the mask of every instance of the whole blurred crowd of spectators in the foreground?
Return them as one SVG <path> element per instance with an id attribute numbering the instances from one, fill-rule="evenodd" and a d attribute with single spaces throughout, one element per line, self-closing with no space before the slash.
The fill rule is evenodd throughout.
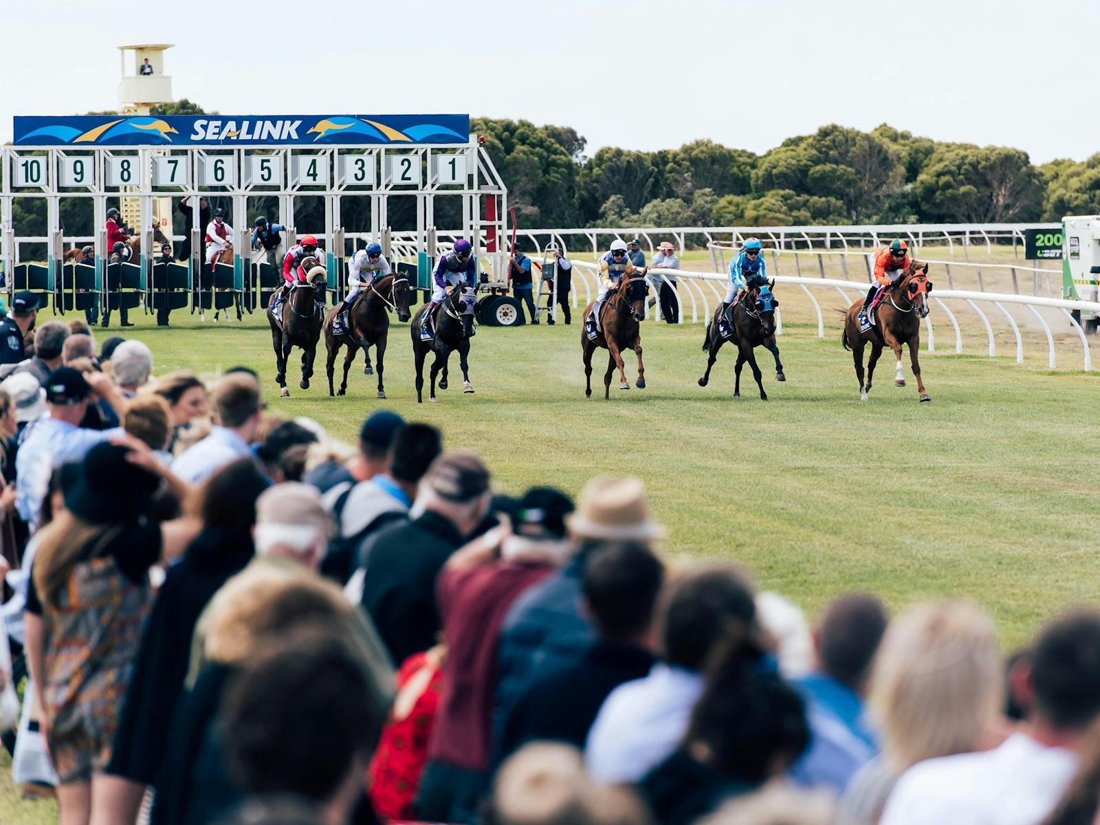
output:
<path id="1" fill-rule="evenodd" d="M 637 479 L 501 490 L 110 343 L 43 324 L 0 383 L 0 723 L 66 825 L 1097 818 L 1096 612 L 1009 661 L 967 602 L 811 626 Z"/>

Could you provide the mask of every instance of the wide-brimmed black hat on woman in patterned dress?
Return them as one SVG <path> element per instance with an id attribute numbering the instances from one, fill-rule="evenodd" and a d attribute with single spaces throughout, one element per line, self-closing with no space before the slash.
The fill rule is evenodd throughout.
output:
<path id="1" fill-rule="evenodd" d="M 84 459 L 80 477 L 65 496 L 65 506 L 85 521 L 129 521 L 150 509 L 161 480 L 132 463 L 130 450 L 96 444 Z"/>

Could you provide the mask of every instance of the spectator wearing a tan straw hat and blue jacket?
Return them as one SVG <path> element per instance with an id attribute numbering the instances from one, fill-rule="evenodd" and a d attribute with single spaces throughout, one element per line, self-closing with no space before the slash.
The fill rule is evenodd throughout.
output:
<path id="1" fill-rule="evenodd" d="M 504 723 L 519 697 L 539 678 L 576 664 L 595 641 L 581 613 L 587 559 L 622 541 L 649 543 L 663 535 L 649 515 L 638 479 L 594 479 L 566 522 L 574 553 L 564 569 L 516 600 L 501 630 L 494 736 L 499 754 Z"/>

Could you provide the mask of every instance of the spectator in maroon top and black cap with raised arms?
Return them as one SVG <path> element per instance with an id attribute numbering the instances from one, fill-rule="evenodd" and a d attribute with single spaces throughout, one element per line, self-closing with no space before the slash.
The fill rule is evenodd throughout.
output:
<path id="1" fill-rule="evenodd" d="M 560 491 L 529 490 L 514 509 L 512 535 L 499 527 L 472 541 L 447 560 L 436 581 L 447 659 L 417 795 L 424 820 L 471 822 L 477 813 L 490 780 L 501 623 L 520 593 L 569 560 L 565 516 L 572 509 Z"/>

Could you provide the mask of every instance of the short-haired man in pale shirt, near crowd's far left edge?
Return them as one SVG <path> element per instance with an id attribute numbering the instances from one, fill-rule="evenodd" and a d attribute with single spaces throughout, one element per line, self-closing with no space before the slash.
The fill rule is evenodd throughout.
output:
<path id="1" fill-rule="evenodd" d="M 180 453 L 172 465 L 189 484 L 199 484 L 226 464 L 252 454 L 250 444 L 264 408 L 258 382 L 248 373 L 227 375 L 213 392 L 213 406 L 218 424 L 210 435 Z"/>

